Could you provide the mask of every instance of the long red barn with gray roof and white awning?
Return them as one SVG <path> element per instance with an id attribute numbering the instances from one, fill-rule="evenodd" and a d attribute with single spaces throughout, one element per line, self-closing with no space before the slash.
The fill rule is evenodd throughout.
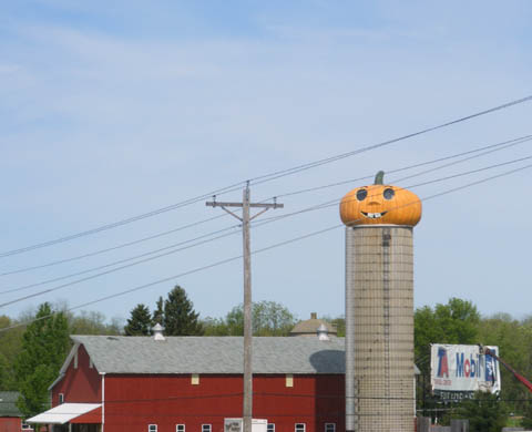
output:
<path id="1" fill-rule="evenodd" d="M 52 409 L 69 432 L 223 432 L 241 418 L 243 338 L 72 336 Z M 253 413 L 268 432 L 345 426 L 342 338 L 254 338 Z"/>

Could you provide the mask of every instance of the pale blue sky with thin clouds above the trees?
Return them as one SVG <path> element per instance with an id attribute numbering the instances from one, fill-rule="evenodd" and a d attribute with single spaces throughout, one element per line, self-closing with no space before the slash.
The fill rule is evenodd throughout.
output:
<path id="1" fill-rule="evenodd" d="M 116 1 L 0 6 L 2 250 L 160 208 L 221 186 L 348 152 L 532 94 L 532 4 L 500 2 Z M 252 188 L 255 199 L 391 171 L 531 133 L 523 104 Z M 419 182 L 530 155 L 530 143 Z M 502 172 L 508 168 L 493 171 Z M 413 173 L 413 172 L 412 172 Z M 415 192 L 431 195 L 491 174 Z M 390 183 L 399 175 L 390 176 Z M 418 179 L 399 183 L 409 186 Z M 451 296 L 485 313 L 532 312 L 531 172 L 428 202 L 416 228 L 416 305 Z M 285 214 L 352 185 L 284 199 Z M 241 193 L 227 195 L 239 199 Z M 0 259 L 1 272 L 190 224 L 202 203 Z M 272 213 L 273 215 L 273 213 Z M 269 214 L 265 215 L 269 216 Z M 339 222 L 330 208 L 252 232 L 260 248 Z M 0 278 L 0 291 L 165 247 L 229 218 L 98 257 Z M 70 306 L 238 255 L 235 235 L 0 309 Z M 298 317 L 344 309 L 344 233 L 253 258 L 254 296 Z M 242 264 L 175 280 L 202 316 L 242 301 Z M 57 285 L 57 284 L 55 284 Z M 54 284 L 11 295 L 55 286 Z M 93 306 L 126 317 L 173 282 Z"/>

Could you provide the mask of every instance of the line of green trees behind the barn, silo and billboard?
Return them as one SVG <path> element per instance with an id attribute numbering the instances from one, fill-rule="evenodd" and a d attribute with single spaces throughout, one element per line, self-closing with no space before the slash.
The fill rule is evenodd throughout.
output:
<path id="1" fill-rule="evenodd" d="M 49 317 L 52 312 L 55 313 Z M 338 336 L 344 336 L 342 317 L 327 320 L 337 327 Z M 278 302 L 253 305 L 253 331 L 256 336 L 288 336 L 296 321 L 295 316 Z M 0 390 L 22 393 L 19 408 L 24 415 L 34 415 L 49 403 L 47 389 L 57 378 L 71 348 L 70 335 L 149 336 L 155 323 L 161 323 L 167 336 L 242 336 L 244 328 L 242 305 L 221 318 L 201 318 L 180 286 L 175 286 L 165 299 L 160 297 L 152 309 L 146 305 L 136 305 L 125 325 L 117 319 L 106 322 L 100 312 L 74 316 L 65 311 L 64 305 L 52 307 L 49 304 L 41 305 L 35 313 L 25 313 L 19 319 L 0 316 L 0 329 L 24 322 L 29 325 L 0 332 Z M 513 412 L 523 416 L 523 424 L 531 419 L 532 426 L 531 394 L 505 369 L 501 369 L 502 391 L 498 397 L 482 394 L 477 397 L 479 403 L 467 401 L 452 405 L 431 397 L 430 343 L 498 346 L 501 358 L 532 379 L 532 318 L 514 319 L 508 313 L 482 317 L 471 301 L 458 298 L 415 311 L 415 359 L 421 371 L 417 385 L 419 413 L 434 415 L 439 412 L 440 418 L 444 414 L 440 419 L 443 422 L 452 415 L 466 415 L 467 410 L 471 418 L 480 420 L 498 413 L 503 420 L 492 419 L 495 424 L 505 421 L 505 416 Z M 492 407 L 490 403 L 495 403 L 497 410 L 488 409 Z"/>

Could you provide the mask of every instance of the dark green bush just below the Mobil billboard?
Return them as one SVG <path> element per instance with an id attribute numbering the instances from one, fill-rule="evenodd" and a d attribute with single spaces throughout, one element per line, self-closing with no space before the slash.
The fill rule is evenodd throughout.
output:
<path id="1" fill-rule="evenodd" d="M 508 408 L 495 394 L 479 391 L 460 404 L 453 418 L 468 419 L 470 432 L 500 432 L 507 425 Z"/>

